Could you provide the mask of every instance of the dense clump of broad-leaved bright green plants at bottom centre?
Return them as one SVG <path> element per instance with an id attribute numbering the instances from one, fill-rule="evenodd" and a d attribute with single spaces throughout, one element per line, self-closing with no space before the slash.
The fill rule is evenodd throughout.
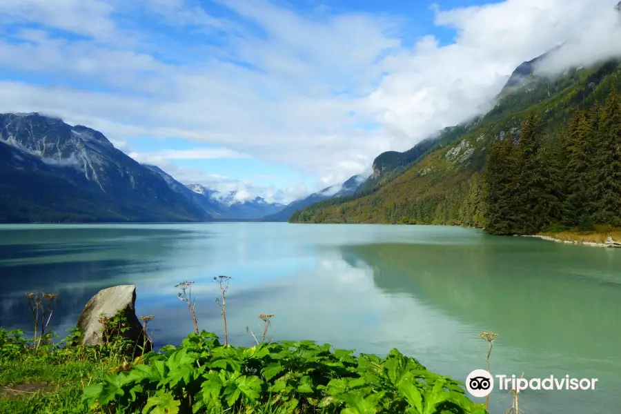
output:
<path id="1" fill-rule="evenodd" d="M 202 331 L 91 384 L 84 400 L 144 414 L 255 413 L 265 406 L 283 413 L 485 413 L 460 382 L 396 349 L 382 359 L 331 348 L 312 341 L 235 348 Z"/>

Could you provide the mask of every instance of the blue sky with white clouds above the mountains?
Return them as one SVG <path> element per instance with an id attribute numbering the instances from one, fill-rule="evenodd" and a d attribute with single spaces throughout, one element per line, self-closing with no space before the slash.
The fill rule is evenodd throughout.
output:
<path id="1" fill-rule="evenodd" d="M 611 3 L 1 1 L 0 110 L 287 202 L 486 110 L 517 64 Z"/>

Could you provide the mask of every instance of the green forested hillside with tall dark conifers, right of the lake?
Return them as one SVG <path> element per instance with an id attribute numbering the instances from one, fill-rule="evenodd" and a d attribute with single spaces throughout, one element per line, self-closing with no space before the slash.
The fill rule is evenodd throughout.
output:
<path id="1" fill-rule="evenodd" d="M 445 131 L 396 177 L 290 221 L 454 224 L 493 234 L 620 226 L 620 74 L 619 61 L 609 61 L 533 77 L 482 119 Z"/>

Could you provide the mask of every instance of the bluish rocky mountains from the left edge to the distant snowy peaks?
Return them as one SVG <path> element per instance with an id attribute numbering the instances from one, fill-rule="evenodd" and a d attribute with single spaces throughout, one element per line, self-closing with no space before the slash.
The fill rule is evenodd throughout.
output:
<path id="1" fill-rule="evenodd" d="M 0 222 L 287 221 L 314 201 L 353 193 L 352 177 L 289 206 L 184 185 L 139 164 L 99 131 L 31 113 L 0 114 Z"/>

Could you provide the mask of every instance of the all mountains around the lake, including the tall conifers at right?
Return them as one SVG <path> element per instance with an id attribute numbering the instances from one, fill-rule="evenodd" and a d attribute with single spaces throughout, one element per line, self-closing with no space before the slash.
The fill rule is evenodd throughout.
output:
<path id="1" fill-rule="evenodd" d="M 181 183 L 86 126 L 3 114 L 0 222 L 442 224 L 603 242 L 621 228 L 620 59 L 538 73 L 562 48 L 516 68 L 484 115 L 288 205 Z"/>

